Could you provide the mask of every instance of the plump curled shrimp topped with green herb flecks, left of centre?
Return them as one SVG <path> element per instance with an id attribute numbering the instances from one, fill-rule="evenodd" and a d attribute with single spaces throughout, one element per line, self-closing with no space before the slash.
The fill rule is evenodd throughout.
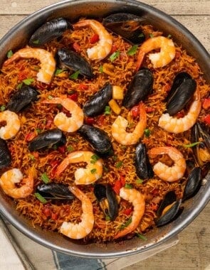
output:
<path id="1" fill-rule="evenodd" d="M 98 180 L 103 173 L 102 159 L 94 160 L 95 154 L 91 151 L 74 151 L 68 154 L 63 159 L 61 164 L 56 169 L 56 176 L 59 176 L 70 163 L 86 162 L 86 168 L 78 168 L 75 171 L 75 184 L 76 185 L 89 185 Z"/>

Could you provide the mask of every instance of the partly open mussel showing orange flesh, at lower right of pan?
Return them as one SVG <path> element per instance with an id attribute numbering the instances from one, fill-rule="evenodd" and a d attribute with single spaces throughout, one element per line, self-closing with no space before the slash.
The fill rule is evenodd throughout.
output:
<path id="1" fill-rule="evenodd" d="M 180 205 L 182 200 L 177 200 L 177 196 L 174 191 L 169 191 L 162 200 L 157 210 L 157 218 L 155 223 L 157 227 L 166 225 L 172 222 L 181 213 Z M 180 210 L 180 211 L 179 211 Z"/>

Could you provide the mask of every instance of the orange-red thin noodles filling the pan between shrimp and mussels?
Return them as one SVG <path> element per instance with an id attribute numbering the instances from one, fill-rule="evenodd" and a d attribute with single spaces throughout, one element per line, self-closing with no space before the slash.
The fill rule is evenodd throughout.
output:
<path id="1" fill-rule="evenodd" d="M 161 32 L 154 31 L 152 26 L 142 26 L 142 30 L 145 32 L 147 38 L 149 34 L 153 34 L 153 36 L 162 35 Z M 90 43 L 90 38 L 93 34 L 93 30 L 90 28 L 80 28 L 73 32 L 66 31 L 63 37 L 59 38 L 58 41 L 51 41 L 44 45 L 43 48 L 51 51 L 54 55 L 58 48 L 69 48 L 75 50 L 88 60 L 86 50 L 93 46 L 93 44 Z M 40 92 L 39 99 L 36 102 L 33 102 L 30 107 L 27 107 L 22 112 L 19 112 L 21 129 L 13 139 L 7 141 L 12 157 L 11 166 L 1 170 L 1 174 L 10 168 L 19 168 L 24 175 L 27 175 L 28 168 L 34 168 L 34 192 L 36 186 L 43 183 L 41 180 L 43 173 L 46 173 L 52 182 L 73 185 L 75 169 L 84 166 L 84 164 L 71 164 L 58 178 L 55 177 L 54 172 L 58 164 L 61 163 L 70 151 L 93 151 L 90 144 L 85 141 L 80 134 L 77 132 L 73 134 L 64 132 L 67 143 L 63 148 L 51 147 L 31 152 L 28 150 L 28 143 L 41 131 L 55 128 L 53 118 L 58 112 L 63 110 L 61 106 L 42 103 L 44 99 L 48 97 L 60 97 L 62 95 L 68 97 L 73 92 L 76 92 L 76 102 L 80 107 L 83 107 L 83 104 L 90 96 L 98 92 L 98 90 L 105 85 L 105 82 L 110 82 L 112 85 L 119 85 L 124 91 L 127 90 L 127 86 L 135 74 L 137 54 L 131 56 L 127 55 L 127 50 L 129 50 L 132 45 L 123 40 L 120 36 L 111 35 L 113 39 L 112 52 L 118 50 L 120 51 L 120 56 L 113 62 L 110 61 L 109 55 L 99 62 L 88 60 L 95 75 L 91 80 L 85 77 L 78 77 L 76 80 L 70 79 L 69 76 L 72 72 L 65 69 L 63 72 L 53 77 L 51 84 L 43 84 L 36 80 L 39 62 L 35 59 L 20 59 L 17 62 L 1 68 L 1 105 L 6 105 L 9 102 L 10 97 L 23 80 L 27 78 L 33 78 L 31 85 L 36 87 Z M 107 75 L 102 71 L 101 67 L 104 63 L 113 65 L 113 74 Z M 156 146 L 174 146 L 182 152 L 186 161 L 194 161 L 191 148 L 184 147 L 184 145 L 190 144 L 190 130 L 181 134 L 170 134 L 158 126 L 158 120 L 164 112 L 164 100 L 178 72 L 188 72 L 189 75 L 196 80 L 201 100 L 209 96 L 209 85 L 204 81 L 199 65 L 194 58 L 191 58 L 191 56 L 187 54 L 186 50 L 176 45 L 176 56 L 168 65 L 163 68 L 154 69 L 146 56 L 143 66 L 152 70 L 154 85 L 152 94 L 144 101 L 147 111 L 147 129 L 149 129 L 150 134 L 149 136 L 144 135 L 142 137 L 142 143 L 146 144 L 147 150 Z M 120 101 L 117 102 L 120 104 Z M 201 109 L 198 121 L 202 122 L 206 113 L 206 110 Z M 120 115 L 129 119 L 130 130 L 132 130 L 132 126 L 135 126 L 137 119 L 132 118 L 129 110 L 124 107 L 122 107 Z M 117 115 L 114 112 L 110 114 L 100 114 L 100 116 L 95 117 L 94 126 L 105 130 L 112 139 L 111 125 L 116 117 Z M 184 178 L 174 183 L 167 183 L 166 181 L 160 180 L 156 175 L 154 175 L 152 179 L 140 181 L 135 173 L 135 165 L 133 162 L 135 145 L 122 146 L 112 139 L 112 146 L 114 148 L 114 156 L 104 159 L 103 176 L 98 180 L 98 183 L 110 183 L 110 185 L 115 186 L 116 181 L 123 179 L 126 184 L 132 185 L 133 188 L 140 190 L 140 192 L 145 195 L 145 214 L 132 235 L 136 233 L 145 234 L 149 229 L 155 227 L 154 219 L 156 217 L 157 207 L 169 190 L 174 190 L 178 199 L 182 198 L 187 172 Z M 120 226 L 130 220 L 132 216 L 132 205 L 130 202 L 121 200 L 119 215 L 114 221 L 110 221 L 105 218 L 102 210 L 100 210 L 99 204 L 93 194 L 93 185 L 80 185 L 80 190 L 83 190 L 93 203 L 95 217 L 93 230 L 84 238 L 84 241 L 113 241 Z M 80 222 L 80 216 L 82 214 L 80 201 L 78 199 L 62 202 L 48 200 L 47 203 L 43 204 L 34 194 L 29 195 L 27 198 L 16 200 L 16 208 L 22 215 L 31 220 L 34 227 L 41 226 L 43 229 L 57 232 L 64 221 Z"/>

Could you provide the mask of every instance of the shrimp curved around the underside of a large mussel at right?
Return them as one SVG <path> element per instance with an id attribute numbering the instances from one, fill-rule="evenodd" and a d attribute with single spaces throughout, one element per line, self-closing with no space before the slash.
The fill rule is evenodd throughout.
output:
<path id="1" fill-rule="evenodd" d="M 191 128 L 191 126 L 194 126 L 194 124 L 196 123 L 200 111 L 201 111 L 200 95 L 199 91 L 196 90 L 194 95 L 194 101 L 191 102 L 189 111 L 184 117 L 177 118 L 170 116 L 168 113 L 162 114 L 162 116 L 159 117 L 158 126 L 174 134 L 187 131 L 188 129 Z"/>

